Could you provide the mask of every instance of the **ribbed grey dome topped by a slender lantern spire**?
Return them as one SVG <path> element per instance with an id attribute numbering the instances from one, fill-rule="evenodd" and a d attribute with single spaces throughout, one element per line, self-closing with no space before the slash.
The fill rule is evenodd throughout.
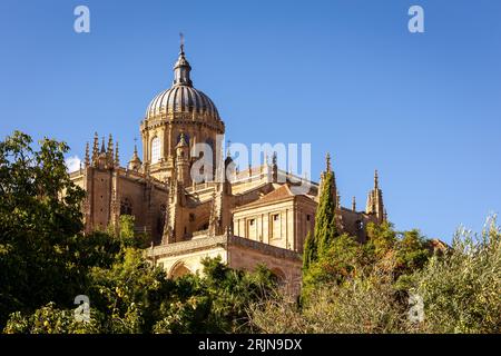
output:
<path id="1" fill-rule="evenodd" d="M 174 66 L 174 81 L 169 89 L 158 93 L 146 110 L 146 119 L 168 117 L 174 113 L 199 115 L 198 119 L 219 123 L 219 113 L 213 100 L 193 87 L 189 72 L 191 67 L 186 60 L 184 48 Z"/>

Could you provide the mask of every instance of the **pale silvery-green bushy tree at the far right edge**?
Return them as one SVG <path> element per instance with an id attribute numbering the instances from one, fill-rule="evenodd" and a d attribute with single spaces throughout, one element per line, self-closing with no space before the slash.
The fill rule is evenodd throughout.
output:
<path id="1" fill-rule="evenodd" d="M 501 333 L 501 230 L 491 218 L 480 237 L 460 229 L 445 256 L 413 276 L 430 333 Z"/>

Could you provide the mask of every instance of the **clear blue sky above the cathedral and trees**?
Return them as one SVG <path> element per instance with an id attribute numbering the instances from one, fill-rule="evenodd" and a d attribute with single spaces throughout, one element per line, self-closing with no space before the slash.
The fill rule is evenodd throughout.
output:
<path id="1" fill-rule="evenodd" d="M 73 9 L 90 9 L 90 33 Z M 424 33 L 407 10 L 424 9 Z M 238 142 L 333 155 L 342 204 L 380 170 L 390 219 L 450 240 L 501 208 L 501 1 L 0 1 L 0 134 L 114 134 L 121 162 L 170 86 L 178 33 L 195 87 Z"/>

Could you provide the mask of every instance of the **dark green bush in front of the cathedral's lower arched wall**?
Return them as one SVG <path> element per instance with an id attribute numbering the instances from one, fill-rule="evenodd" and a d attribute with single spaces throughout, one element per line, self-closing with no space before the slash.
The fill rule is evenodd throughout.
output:
<path id="1" fill-rule="evenodd" d="M 205 259 L 202 278 L 176 279 L 180 290 L 158 322 L 155 333 L 236 333 L 248 330 L 247 309 L 276 288 L 272 273 L 261 266 L 255 273 L 234 270 L 220 259 Z M 186 284 L 190 288 L 186 288 Z"/>

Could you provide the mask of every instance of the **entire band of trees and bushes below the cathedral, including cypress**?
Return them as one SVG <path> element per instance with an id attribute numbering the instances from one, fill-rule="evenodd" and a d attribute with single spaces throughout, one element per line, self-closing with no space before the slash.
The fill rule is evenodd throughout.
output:
<path id="1" fill-rule="evenodd" d="M 501 333 L 501 230 L 460 230 L 433 254 L 418 230 L 370 224 L 367 241 L 337 236 L 326 174 L 304 249 L 301 304 L 273 274 L 205 259 L 200 275 L 167 279 L 145 257 L 134 217 L 82 235 L 84 191 L 67 174 L 62 142 L 14 132 L 0 142 L 0 329 L 3 333 Z M 424 301 L 411 323 L 409 295 Z M 90 299 L 90 322 L 73 300 Z"/>

